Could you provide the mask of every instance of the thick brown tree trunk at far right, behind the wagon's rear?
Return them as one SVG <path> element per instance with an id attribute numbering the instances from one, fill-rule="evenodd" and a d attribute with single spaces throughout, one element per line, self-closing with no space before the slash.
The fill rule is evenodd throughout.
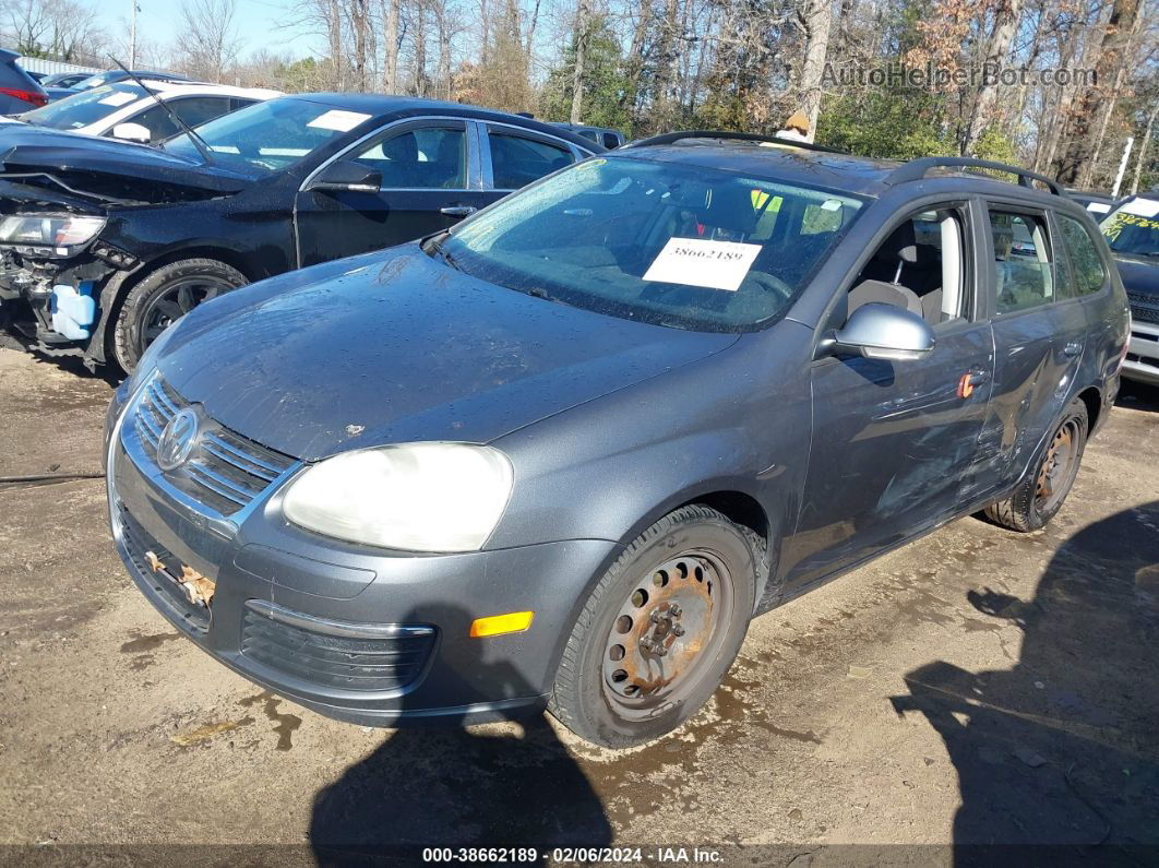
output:
<path id="1" fill-rule="evenodd" d="M 1072 116 L 1066 149 L 1059 160 L 1058 180 L 1081 185 L 1091 177 L 1096 152 L 1106 134 L 1110 107 L 1118 96 L 1120 73 L 1125 68 L 1127 51 L 1139 17 L 1140 0 L 1114 0 L 1110 19 L 1100 41 L 1095 65 L 1098 83 L 1089 87 Z"/>

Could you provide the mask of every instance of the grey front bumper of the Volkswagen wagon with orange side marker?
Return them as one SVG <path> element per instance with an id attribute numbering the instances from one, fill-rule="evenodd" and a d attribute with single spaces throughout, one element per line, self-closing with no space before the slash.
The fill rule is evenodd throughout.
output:
<path id="1" fill-rule="evenodd" d="M 620 550 L 603 540 L 430 556 L 345 546 L 290 526 L 276 484 L 221 520 L 141 460 L 117 409 L 110 520 L 133 582 L 211 656 L 338 720 L 482 722 L 541 708 L 586 589 Z M 212 615 L 151 568 L 146 546 L 170 571 L 217 583 Z M 474 619 L 519 611 L 534 612 L 527 630 L 469 637 Z"/>

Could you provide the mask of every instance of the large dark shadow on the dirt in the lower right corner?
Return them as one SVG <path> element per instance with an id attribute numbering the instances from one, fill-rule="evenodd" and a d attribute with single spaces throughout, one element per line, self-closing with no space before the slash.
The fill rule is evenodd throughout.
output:
<path id="1" fill-rule="evenodd" d="M 932 663 L 906 676 L 907 695 L 891 699 L 898 714 L 926 716 L 956 767 L 954 843 L 964 846 L 955 861 L 993 863 L 1016 853 L 993 847 L 1051 844 L 1064 845 L 1064 865 L 1153 863 L 1159 501 L 1069 539 L 1034 599 L 989 588 L 969 599 L 1022 630 L 1016 664 L 975 673 Z"/>

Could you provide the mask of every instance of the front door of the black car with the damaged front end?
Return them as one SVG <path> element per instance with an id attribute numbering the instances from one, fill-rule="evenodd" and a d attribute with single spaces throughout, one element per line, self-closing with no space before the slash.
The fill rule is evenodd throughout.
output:
<path id="1" fill-rule="evenodd" d="M 340 155 L 382 176 L 376 192 L 307 190 L 296 203 L 299 265 L 353 256 L 449 228 L 498 196 L 482 189 L 474 125 L 392 124 Z"/>

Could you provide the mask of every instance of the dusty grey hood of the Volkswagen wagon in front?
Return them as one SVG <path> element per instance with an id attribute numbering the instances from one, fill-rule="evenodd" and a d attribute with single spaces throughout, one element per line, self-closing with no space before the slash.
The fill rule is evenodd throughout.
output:
<path id="1" fill-rule="evenodd" d="M 198 307 L 159 369 L 227 428 L 315 460 L 387 443 L 487 443 L 736 340 L 533 298 L 408 245 Z"/>

